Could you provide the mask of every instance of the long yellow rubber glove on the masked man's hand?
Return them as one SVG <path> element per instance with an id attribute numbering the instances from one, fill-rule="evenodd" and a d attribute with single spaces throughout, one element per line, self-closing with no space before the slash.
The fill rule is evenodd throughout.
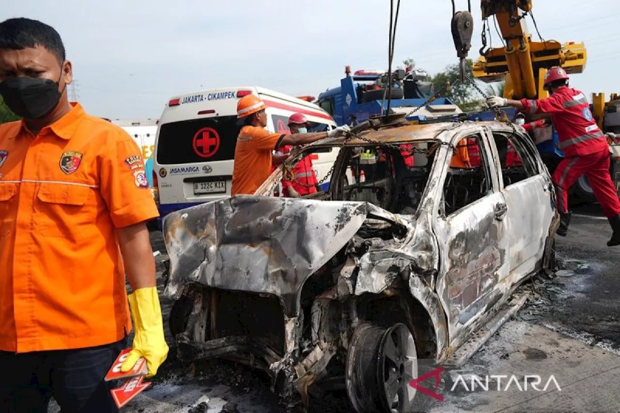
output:
<path id="1" fill-rule="evenodd" d="M 153 377 L 168 356 L 157 287 L 133 291 L 129 295 L 129 307 L 133 316 L 133 349 L 120 370 L 131 370 L 139 358 L 144 357 L 149 369 L 146 377 Z"/>

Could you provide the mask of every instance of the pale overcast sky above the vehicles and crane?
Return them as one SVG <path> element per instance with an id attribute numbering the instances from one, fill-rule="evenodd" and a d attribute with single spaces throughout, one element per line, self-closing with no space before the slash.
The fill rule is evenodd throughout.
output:
<path id="1" fill-rule="evenodd" d="M 466 9 L 466 0 L 455 0 Z M 585 72 L 573 87 L 620 92 L 620 0 L 534 0 L 546 40 L 585 42 Z M 53 25 L 73 62 L 88 112 L 157 118 L 170 95 L 257 85 L 292 95 L 339 86 L 344 66 L 387 69 L 389 0 L 26 0 L 4 1 L 0 19 Z M 7 4 L 8 3 L 8 4 Z M 480 2 L 472 1 L 480 48 Z M 450 0 L 404 0 L 394 62 L 412 57 L 430 74 L 457 62 Z M 79 16 L 79 17 L 78 17 Z M 538 40 L 531 19 L 528 29 Z M 494 46 L 500 44 L 492 27 Z"/>

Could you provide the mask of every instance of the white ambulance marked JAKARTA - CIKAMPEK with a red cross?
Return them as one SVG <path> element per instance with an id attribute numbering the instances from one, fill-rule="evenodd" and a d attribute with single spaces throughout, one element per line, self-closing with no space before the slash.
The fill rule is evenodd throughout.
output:
<path id="1" fill-rule="evenodd" d="M 271 133 L 290 133 L 288 118 L 296 112 L 308 119 L 308 132 L 336 127 L 329 113 L 311 103 L 314 98 L 299 99 L 258 86 L 172 97 L 159 119 L 153 163 L 162 218 L 175 210 L 230 196 L 234 150 L 243 122 L 237 119 L 237 101 L 249 94 L 265 102 L 267 130 Z M 327 175 L 337 155 L 337 148 L 311 155 L 319 181 Z M 327 187 L 329 179 L 322 189 Z"/>

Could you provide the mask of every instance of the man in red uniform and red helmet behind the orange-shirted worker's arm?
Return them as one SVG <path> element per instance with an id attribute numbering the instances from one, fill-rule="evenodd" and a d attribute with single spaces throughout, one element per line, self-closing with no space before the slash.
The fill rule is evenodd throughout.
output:
<path id="1" fill-rule="evenodd" d="M 288 118 L 288 128 L 291 133 L 308 133 L 308 120 L 301 113 L 293 113 Z M 293 145 L 285 145 L 281 148 L 281 154 L 290 153 Z M 319 183 L 312 170 L 312 159 L 304 156 L 293 167 L 293 180 L 282 179 L 282 190 L 285 197 L 299 198 L 304 195 L 316 193 L 316 185 Z"/>

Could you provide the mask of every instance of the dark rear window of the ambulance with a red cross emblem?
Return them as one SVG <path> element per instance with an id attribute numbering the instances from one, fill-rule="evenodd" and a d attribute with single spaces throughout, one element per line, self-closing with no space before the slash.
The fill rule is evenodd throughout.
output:
<path id="1" fill-rule="evenodd" d="M 159 129 L 157 163 L 229 161 L 234 158 L 239 130 L 236 115 L 164 123 Z"/>

